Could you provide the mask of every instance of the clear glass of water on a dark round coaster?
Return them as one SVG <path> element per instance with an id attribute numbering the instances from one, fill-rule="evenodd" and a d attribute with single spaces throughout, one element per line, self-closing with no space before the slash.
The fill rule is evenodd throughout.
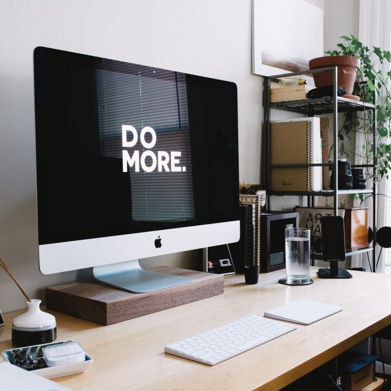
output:
<path id="1" fill-rule="evenodd" d="M 310 230 L 285 229 L 285 266 L 287 277 L 279 282 L 287 285 L 308 285 L 310 278 Z"/>

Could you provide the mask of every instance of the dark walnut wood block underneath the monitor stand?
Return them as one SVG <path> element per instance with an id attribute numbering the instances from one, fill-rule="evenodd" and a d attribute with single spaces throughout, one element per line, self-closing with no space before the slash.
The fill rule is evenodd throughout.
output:
<path id="1" fill-rule="evenodd" d="M 109 325 L 224 293 L 224 276 L 159 266 L 150 270 L 194 278 L 192 283 L 148 293 L 131 293 L 94 281 L 46 288 L 46 306 L 91 322 Z"/>

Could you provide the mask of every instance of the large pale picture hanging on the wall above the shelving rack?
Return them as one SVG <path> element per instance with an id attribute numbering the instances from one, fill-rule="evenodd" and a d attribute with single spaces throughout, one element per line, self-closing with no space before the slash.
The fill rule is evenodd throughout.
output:
<path id="1" fill-rule="evenodd" d="M 324 55 L 323 10 L 304 0 L 253 0 L 252 33 L 256 75 L 308 70 Z"/>

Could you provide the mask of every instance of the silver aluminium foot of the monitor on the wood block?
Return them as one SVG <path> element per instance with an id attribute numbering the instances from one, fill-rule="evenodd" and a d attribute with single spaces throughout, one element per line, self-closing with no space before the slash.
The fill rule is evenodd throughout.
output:
<path id="1" fill-rule="evenodd" d="M 138 260 L 93 267 L 95 280 L 133 293 L 147 293 L 193 282 L 193 278 L 143 269 Z"/>

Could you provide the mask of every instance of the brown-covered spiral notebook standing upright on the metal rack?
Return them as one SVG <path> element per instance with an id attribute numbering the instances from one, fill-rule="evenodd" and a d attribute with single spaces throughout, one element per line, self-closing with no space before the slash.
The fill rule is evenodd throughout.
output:
<path id="1" fill-rule="evenodd" d="M 270 164 L 322 163 L 320 119 L 271 121 Z M 271 190 L 322 190 L 322 167 L 271 167 Z"/>

